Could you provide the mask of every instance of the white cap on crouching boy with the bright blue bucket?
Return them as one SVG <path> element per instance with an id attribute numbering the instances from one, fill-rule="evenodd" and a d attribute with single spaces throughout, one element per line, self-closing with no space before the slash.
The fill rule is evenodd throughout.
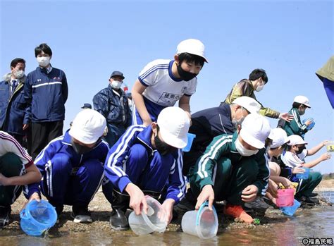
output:
<path id="1" fill-rule="evenodd" d="M 92 109 L 85 109 L 75 116 L 69 134 L 84 144 L 94 144 L 104 134 L 104 128 L 104 116 Z"/>

